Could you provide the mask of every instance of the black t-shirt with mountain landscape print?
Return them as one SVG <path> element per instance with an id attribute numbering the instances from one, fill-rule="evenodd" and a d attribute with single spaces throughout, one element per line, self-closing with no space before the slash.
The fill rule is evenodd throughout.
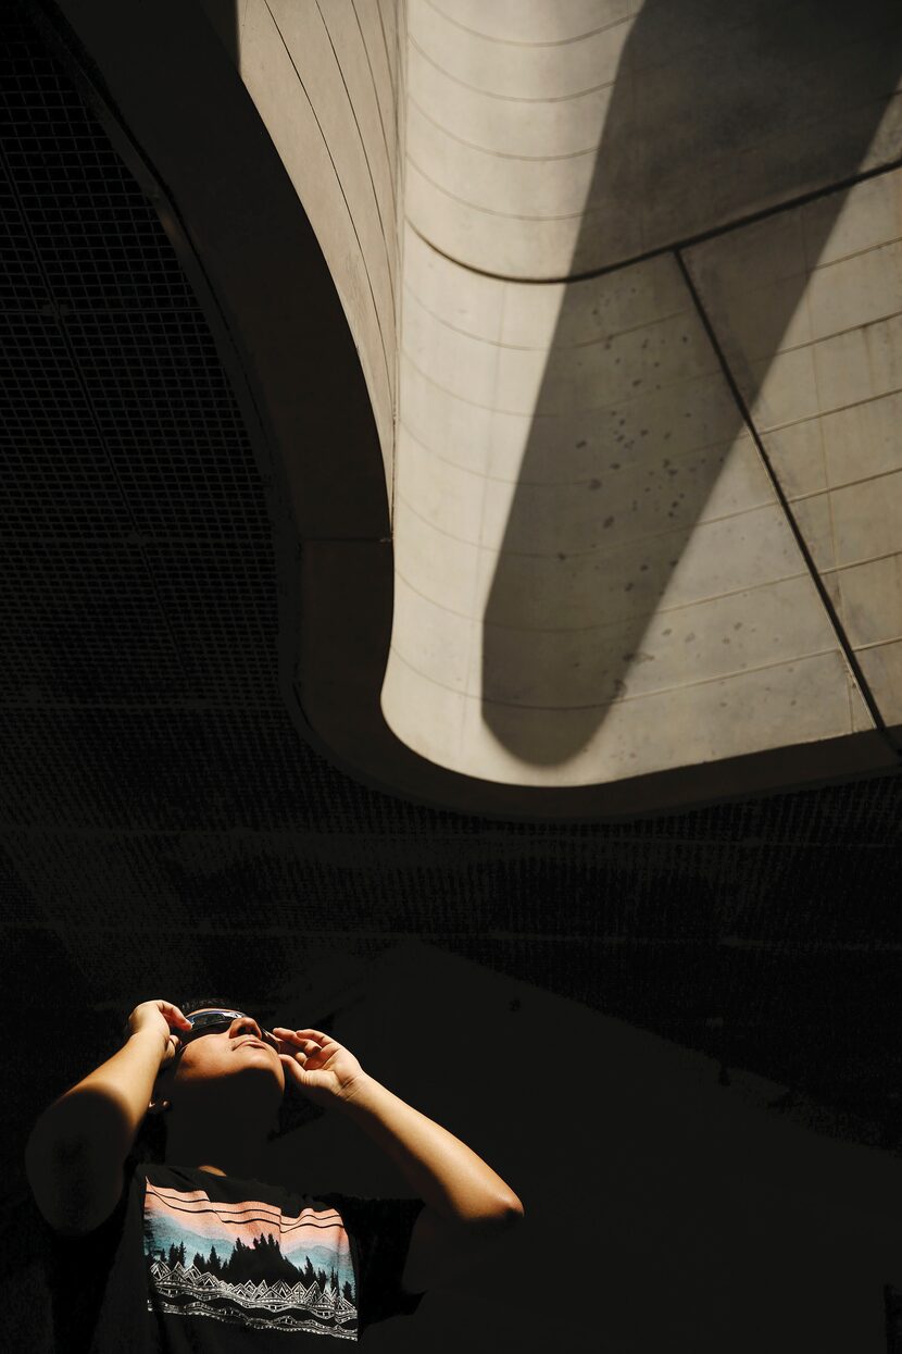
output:
<path id="1" fill-rule="evenodd" d="M 422 1208 L 128 1158 L 100 1227 L 41 1220 L 57 1354 L 325 1354 L 319 1336 L 417 1311 L 400 1277 Z"/>

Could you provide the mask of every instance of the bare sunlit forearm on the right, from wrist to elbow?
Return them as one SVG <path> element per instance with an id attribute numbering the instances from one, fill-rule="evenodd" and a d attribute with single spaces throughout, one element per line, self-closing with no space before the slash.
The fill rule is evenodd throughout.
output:
<path id="1" fill-rule="evenodd" d="M 450 1221 L 522 1212 L 510 1185 L 476 1152 L 375 1078 L 365 1075 L 342 1109 L 392 1158 L 417 1194 Z"/>

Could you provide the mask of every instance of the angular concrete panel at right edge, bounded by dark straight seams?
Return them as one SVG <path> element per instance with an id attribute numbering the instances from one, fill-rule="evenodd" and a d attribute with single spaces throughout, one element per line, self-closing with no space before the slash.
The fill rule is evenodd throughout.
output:
<path id="1" fill-rule="evenodd" d="M 888 724 L 902 722 L 901 233 L 895 171 L 688 255 Z M 775 288 L 801 292 L 776 345 Z"/>

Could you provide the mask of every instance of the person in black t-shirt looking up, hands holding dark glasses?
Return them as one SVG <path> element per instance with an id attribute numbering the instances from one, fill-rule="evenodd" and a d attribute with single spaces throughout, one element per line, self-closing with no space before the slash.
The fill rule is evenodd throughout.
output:
<path id="1" fill-rule="evenodd" d="M 460 1139 L 323 1030 L 218 1002 L 142 1002 L 126 1043 L 46 1110 L 26 1151 L 49 1232 L 60 1350 L 312 1349 L 412 1313 L 523 1216 Z M 283 1097 L 348 1114 L 415 1198 L 312 1198 L 264 1181 Z M 165 1159 L 138 1163 L 145 1116 Z M 322 1347 L 316 1346 L 321 1350 Z"/>

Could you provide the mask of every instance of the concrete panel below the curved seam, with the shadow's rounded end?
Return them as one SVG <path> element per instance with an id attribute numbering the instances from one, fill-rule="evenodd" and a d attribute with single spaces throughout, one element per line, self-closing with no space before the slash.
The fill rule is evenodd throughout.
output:
<path id="1" fill-rule="evenodd" d="M 540 288 L 411 237 L 406 269 L 400 737 L 572 784 L 867 726 L 672 256 Z"/>

